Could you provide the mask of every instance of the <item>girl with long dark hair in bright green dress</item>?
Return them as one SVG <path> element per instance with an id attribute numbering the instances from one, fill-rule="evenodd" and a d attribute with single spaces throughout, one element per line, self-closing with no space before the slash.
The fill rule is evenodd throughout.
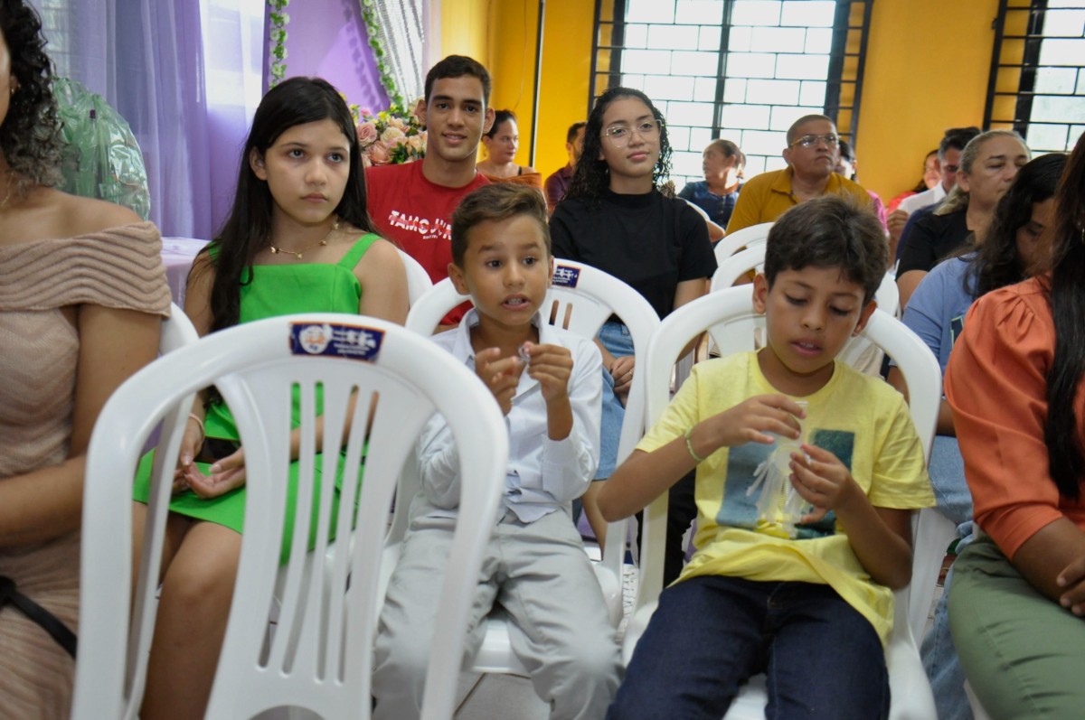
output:
<path id="1" fill-rule="evenodd" d="M 253 118 L 230 217 L 193 262 L 186 313 L 204 335 L 293 312 L 359 312 L 403 323 L 407 306 L 398 252 L 373 234 L 366 210 L 346 104 L 324 80 L 281 82 Z M 175 473 L 143 720 L 203 717 L 237 576 L 244 449 L 229 409 L 203 395 L 189 416 Z M 149 473 L 146 458 L 136 483 L 137 552 Z M 290 515 L 293 497 L 288 502 Z M 291 531 L 288 524 L 284 547 Z"/>

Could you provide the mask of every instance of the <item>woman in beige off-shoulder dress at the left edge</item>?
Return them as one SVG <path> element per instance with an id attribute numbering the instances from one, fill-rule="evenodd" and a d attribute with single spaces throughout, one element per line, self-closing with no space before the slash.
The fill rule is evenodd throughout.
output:
<path id="1" fill-rule="evenodd" d="M 0 602 L 0 716 L 35 720 L 68 716 L 75 666 L 22 607 L 77 630 L 91 429 L 155 357 L 169 313 L 154 226 L 53 188 L 61 141 L 43 46 L 25 0 L 0 0 L 0 583 L 20 593 Z"/>

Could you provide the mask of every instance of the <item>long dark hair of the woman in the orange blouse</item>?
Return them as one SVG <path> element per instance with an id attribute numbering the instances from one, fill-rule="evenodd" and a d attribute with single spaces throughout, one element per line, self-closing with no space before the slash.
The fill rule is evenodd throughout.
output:
<path id="1" fill-rule="evenodd" d="M 1044 439 L 1051 478 L 1064 498 L 1077 500 L 1085 477 L 1085 448 L 1074 400 L 1085 371 L 1085 133 L 1070 155 L 1056 194 L 1056 234 L 1048 298 L 1055 320 L 1055 359 L 1047 371 Z"/>

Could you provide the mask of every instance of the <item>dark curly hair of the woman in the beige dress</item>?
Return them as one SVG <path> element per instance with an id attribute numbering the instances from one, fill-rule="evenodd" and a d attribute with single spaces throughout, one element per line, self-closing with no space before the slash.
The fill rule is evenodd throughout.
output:
<path id="1" fill-rule="evenodd" d="M 18 190 L 31 184 L 51 188 L 61 180 L 63 141 L 41 20 L 24 0 L 0 0 L 0 33 L 16 82 L 0 125 L 0 152 L 18 176 Z"/>

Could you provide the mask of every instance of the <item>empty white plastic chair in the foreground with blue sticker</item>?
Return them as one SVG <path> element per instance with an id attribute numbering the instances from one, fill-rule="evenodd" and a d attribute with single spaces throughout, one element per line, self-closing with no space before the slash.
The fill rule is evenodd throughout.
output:
<path id="1" fill-rule="evenodd" d="M 339 355 L 336 355 L 339 353 Z M 200 388 L 214 384 L 229 403 L 245 448 L 250 477 L 238 580 L 207 713 L 250 718 L 298 707 L 323 718 L 369 718 L 370 672 L 381 549 L 387 507 L 404 458 L 436 410 L 452 427 L 463 463 L 461 523 L 444 579 L 422 717 L 451 717 L 468 610 L 488 526 L 505 483 L 508 445 L 500 411 L 486 388 L 442 349 L 398 325 L 334 313 L 284 316 L 214 333 L 158 359 L 129 378 L 102 410 L 91 437 L 82 513 L 80 661 L 75 720 L 136 718 L 143 694 L 154 622 L 152 601 L 161 551 L 148 550 L 129 612 L 132 529 L 131 478 L 151 428 Z M 334 484 L 314 498 L 316 389 L 323 388 L 323 457 L 359 467 L 360 492 L 345 473 L 339 515 L 331 517 Z M 294 536 L 286 564 L 279 631 L 266 642 L 285 512 L 292 389 L 301 396 L 302 451 Z M 357 398 L 353 415 L 349 402 Z M 372 411 L 371 424 L 367 422 Z M 350 432 L 345 445 L 345 423 Z M 173 460 L 183 425 L 167 427 L 152 487 L 146 537 L 162 523 Z M 162 475 L 165 465 L 165 476 Z M 329 478 L 326 475 L 326 478 Z M 255 478 L 259 478 L 256 481 Z M 319 503 L 316 548 L 307 548 L 314 502 Z M 154 525 L 155 519 L 158 520 Z M 354 526 L 355 552 L 335 553 L 332 587 L 318 577 L 332 520 Z M 151 579 L 149 581 L 149 578 Z M 347 579 L 349 578 L 349 583 Z M 467 581 L 470 579 L 470 581 Z M 436 579 L 435 579 L 436 580 Z M 133 617 L 131 621 L 129 618 Z M 199 628 L 193 628 L 199 631 Z"/>

